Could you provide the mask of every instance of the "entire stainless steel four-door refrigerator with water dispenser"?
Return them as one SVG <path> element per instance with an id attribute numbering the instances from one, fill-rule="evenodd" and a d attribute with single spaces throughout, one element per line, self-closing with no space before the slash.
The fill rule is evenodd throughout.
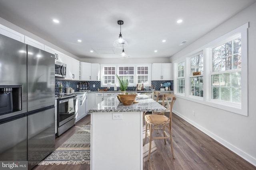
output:
<path id="1" fill-rule="evenodd" d="M 0 160 L 32 169 L 55 149 L 54 55 L 0 34 Z"/>

